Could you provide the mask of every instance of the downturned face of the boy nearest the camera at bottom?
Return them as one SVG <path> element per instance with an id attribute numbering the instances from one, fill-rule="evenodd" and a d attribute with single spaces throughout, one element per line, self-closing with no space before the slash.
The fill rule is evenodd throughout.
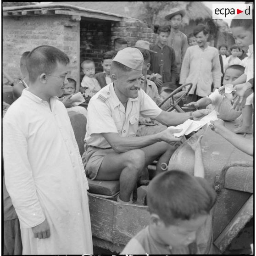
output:
<path id="1" fill-rule="evenodd" d="M 156 228 L 157 236 L 165 245 L 175 248 L 187 246 L 195 241 L 197 230 L 206 223 L 207 215 L 201 215 L 191 220 L 177 220 L 177 225 L 165 226 L 159 223 Z"/>

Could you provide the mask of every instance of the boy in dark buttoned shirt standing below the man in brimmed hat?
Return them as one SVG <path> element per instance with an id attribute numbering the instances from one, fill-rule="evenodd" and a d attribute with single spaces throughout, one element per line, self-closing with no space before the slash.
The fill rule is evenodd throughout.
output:
<path id="1" fill-rule="evenodd" d="M 158 28 L 158 43 L 151 50 L 156 51 L 151 55 L 150 70 L 162 76 L 163 83 L 171 82 L 176 84 L 177 65 L 173 48 L 167 45 L 170 36 L 170 28 L 161 26 Z"/>

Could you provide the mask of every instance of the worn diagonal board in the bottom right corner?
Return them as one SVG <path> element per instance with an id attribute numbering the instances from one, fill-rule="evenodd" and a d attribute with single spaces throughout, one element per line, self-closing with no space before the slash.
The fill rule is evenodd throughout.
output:
<path id="1" fill-rule="evenodd" d="M 247 222 L 253 217 L 253 195 L 245 202 L 234 218 L 214 241 L 214 245 L 223 253 Z"/>

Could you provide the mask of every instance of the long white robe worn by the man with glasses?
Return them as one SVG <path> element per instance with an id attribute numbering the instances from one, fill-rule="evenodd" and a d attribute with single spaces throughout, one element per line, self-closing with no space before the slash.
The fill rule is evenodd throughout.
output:
<path id="1" fill-rule="evenodd" d="M 93 254 L 88 183 L 67 110 L 24 89 L 3 120 L 6 188 L 17 212 L 22 254 Z M 50 237 L 34 238 L 45 218 Z"/>

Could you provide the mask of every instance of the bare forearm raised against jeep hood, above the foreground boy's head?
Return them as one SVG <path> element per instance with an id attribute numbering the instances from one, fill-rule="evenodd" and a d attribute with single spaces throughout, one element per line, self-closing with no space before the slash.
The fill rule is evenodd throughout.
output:
<path id="1" fill-rule="evenodd" d="M 203 135 L 200 137 L 191 137 L 188 139 L 188 144 L 195 151 L 195 164 L 194 164 L 194 176 L 205 178 L 205 168 L 203 164 L 203 156 L 201 149 L 201 139 Z"/>

